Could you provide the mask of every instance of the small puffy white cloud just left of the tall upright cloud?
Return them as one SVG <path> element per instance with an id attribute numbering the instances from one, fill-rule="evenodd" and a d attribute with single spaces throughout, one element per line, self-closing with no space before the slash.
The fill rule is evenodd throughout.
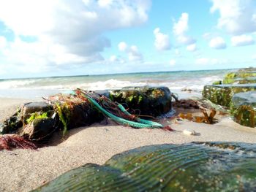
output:
<path id="1" fill-rule="evenodd" d="M 162 34 L 159 28 L 155 28 L 154 37 L 154 46 L 157 50 L 170 50 L 170 39 L 167 34 Z"/>

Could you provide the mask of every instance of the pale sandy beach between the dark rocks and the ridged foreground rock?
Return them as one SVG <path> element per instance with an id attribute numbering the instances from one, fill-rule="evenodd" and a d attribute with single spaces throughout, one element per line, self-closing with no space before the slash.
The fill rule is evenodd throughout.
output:
<path id="1" fill-rule="evenodd" d="M 0 99 L 0 120 L 12 115 L 24 99 Z M 163 120 L 175 131 L 135 129 L 116 123 L 95 123 L 68 132 L 64 142 L 38 150 L 0 151 L 0 191 L 31 191 L 53 180 L 69 169 L 87 163 L 104 164 L 111 156 L 145 145 L 186 143 L 195 141 L 256 142 L 256 129 L 240 126 L 229 117 L 214 125 L 192 123 L 187 120 L 173 123 Z M 196 136 L 183 133 L 192 129 Z M 59 141 L 56 134 L 53 140 Z"/>

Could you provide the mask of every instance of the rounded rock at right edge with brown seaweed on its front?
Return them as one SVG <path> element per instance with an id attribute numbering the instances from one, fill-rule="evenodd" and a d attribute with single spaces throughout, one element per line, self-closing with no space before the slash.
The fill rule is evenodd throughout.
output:
<path id="1" fill-rule="evenodd" d="M 237 123 L 254 128 L 256 126 L 256 91 L 236 93 L 232 99 L 231 111 Z"/>

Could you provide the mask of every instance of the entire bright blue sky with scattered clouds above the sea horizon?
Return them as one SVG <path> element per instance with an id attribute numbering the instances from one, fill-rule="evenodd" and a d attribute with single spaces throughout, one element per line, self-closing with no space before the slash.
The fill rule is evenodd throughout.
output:
<path id="1" fill-rule="evenodd" d="M 256 66 L 255 0 L 0 0 L 0 79 Z"/>

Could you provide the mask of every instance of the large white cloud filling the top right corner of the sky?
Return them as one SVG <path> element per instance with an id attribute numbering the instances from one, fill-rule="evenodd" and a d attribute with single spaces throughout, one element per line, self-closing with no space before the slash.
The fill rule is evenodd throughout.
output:
<path id="1" fill-rule="evenodd" d="M 244 34 L 256 31 L 255 0 L 211 0 L 211 12 L 219 11 L 217 26 L 230 34 Z"/>

